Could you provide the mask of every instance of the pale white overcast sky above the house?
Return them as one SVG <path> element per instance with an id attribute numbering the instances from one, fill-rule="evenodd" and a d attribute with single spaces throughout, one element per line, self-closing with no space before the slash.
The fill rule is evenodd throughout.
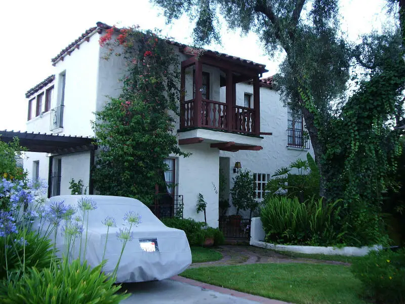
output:
<path id="1" fill-rule="evenodd" d="M 349 39 L 379 29 L 385 20 L 381 13 L 386 0 L 341 0 L 343 29 Z M 192 24 L 186 16 L 166 25 L 161 10 L 148 0 L 88 1 L 23 0 L 0 4 L 0 130 L 25 130 L 27 100 L 25 92 L 54 73 L 51 58 L 97 21 L 110 25 L 139 24 L 142 29 L 163 29 L 163 34 L 190 44 Z M 266 64 L 269 76 L 277 72 L 278 58 L 264 55 L 253 33 L 222 29 L 222 46 L 207 48 Z"/>

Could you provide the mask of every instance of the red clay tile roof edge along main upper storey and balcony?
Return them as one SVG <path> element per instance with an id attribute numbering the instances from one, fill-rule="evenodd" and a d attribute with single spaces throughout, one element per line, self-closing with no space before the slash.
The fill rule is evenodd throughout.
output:
<path id="1" fill-rule="evenodd" d="M 89 36 L 94 30 L 96 29 L 110 29 L 112 26 L 105 24 L 103 22 L 97 22 L 97 27 L 91 27 L 89 28 L 87 31 L 85 31 L 82 35 L 80 35 L 78 37 L 78 39 L 76 39 L 74 42 L 72 42 L 71 44 L 69 44 L 66 48 L 64 48 L 56 57 L 52 58 L 52 62 L 53 64 L 55 64 L 60 58 L 62 58 L 66 53 L 68 53 L 69 51 L 73 51 L 74 47 L 82 40 L 86 39 L 87 36 Z M 195 49 L 192 49 L 191 47 L 185 45 L 185 44 L 181 44 L 175 41 L 171 41 L 171 40 L 167 40 L 167 42 L 169 44 L 178 46 L 180 49 L 183 49 L 185 52 L 195 52 Z M 260 64 L 260 63 L 256 63 L 253 62 L 251 60 L 247 60 L 247 59 L 242 59 L 240 57 L 235 57 L 235 56 L 231 56 L 228 54 L 224 54 L 224 53 L 220 53 L 220 52 L 215 52 L 215 51 L 211 51 L 211 50 L 207 50 L 207 49 L 201 49 L 204 51 L 205 54 L 207 55 L 211 55 L 211 56 L 215 56 L 215 57 L 221 57 L 224 59 L 228 59 L 228 60 L 233 60 L 233 61 L 238 61 L 240 64 L 243 65 L 247 65 L 247 66 L 252 66 L 254 68 L 258 68 L 261 69 L 261 72 L 267 71 L 265 70 L 266 65 L 265 64 Z"/>

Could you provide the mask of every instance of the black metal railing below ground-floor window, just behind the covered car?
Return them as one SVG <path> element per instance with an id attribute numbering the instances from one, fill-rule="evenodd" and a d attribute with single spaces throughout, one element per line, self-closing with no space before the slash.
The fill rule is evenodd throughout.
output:
<path id="1" fill-rule="evenodd" d="M 170 194 L 158 194 L 154 204 L 149 207 L 158 218 L 183 217 L 183 196 Z"/>

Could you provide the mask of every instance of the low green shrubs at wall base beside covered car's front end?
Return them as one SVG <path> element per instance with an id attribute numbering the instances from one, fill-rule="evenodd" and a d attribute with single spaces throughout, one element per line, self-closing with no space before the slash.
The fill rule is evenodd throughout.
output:
<path id="1" fill-rule="evenodd" d="M 206 238 L 213 238 L 214 245 L 224 243 L 224 235 L 218 229 L 207 227 L 204 222 L 197 222 L 193 219 L 163 218 L 161 221 L 168 227 L 183 230 L 186 233 L 190 246 L 202 246 Z"/>

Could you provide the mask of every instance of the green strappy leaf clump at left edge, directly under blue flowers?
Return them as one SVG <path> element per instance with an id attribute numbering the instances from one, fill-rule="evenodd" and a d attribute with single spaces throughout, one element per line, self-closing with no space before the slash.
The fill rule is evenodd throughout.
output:
<path id="1" fill-rule="evenodd" d="M 21 239 L 25 239 L 26 241 L 25 248 L 23 242 L 19 241 Z M 8 246 L 5 246 L 5 243 Z M 24 233 L 20 230 L 15 235 L 2 237 L 0 238 L 0 280 L 7 277 L 5 250 L 7 250 L 9 272 L 14 273 L 23 271 L 24 250 L 26 269 L 35 267 L 38 270 L 42 270 L 45 267 L 49 267 L 53 255 L 51 241 L 39 236 L 36 232 Z"/>

